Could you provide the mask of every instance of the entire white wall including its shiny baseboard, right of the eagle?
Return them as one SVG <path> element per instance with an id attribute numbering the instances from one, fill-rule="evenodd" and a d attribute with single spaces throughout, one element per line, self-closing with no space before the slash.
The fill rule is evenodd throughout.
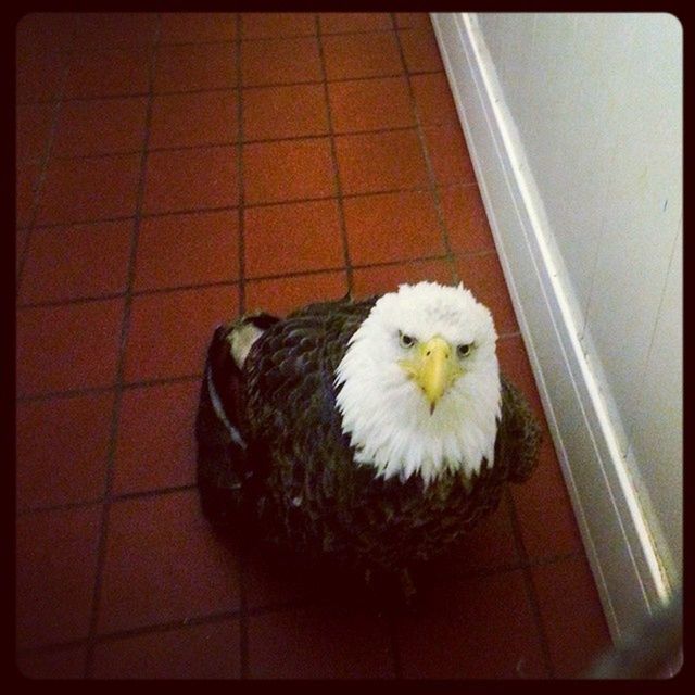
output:
<path id="1" fill-rule="evenodd" d="M 433 14 L 615 635 L 682 573 L 682 29 Z"/>

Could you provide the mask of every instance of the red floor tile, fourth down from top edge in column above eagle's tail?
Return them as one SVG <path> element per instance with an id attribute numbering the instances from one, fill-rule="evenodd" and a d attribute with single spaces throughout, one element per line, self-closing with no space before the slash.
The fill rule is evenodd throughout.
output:
<path id="1" fill-rule="evenodd" d="M 150 152 L 144 212 L 189 212 L 237 205 L 237 148 L 232 146 Z"/>

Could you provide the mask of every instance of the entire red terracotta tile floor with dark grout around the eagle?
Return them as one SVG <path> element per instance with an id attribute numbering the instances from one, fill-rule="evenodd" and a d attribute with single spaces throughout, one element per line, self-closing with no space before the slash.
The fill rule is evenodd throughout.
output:
<path id="1" fill-rule="evenodd" d="M 198 504 L 204 351 L 238 312 L 462 279 L 543 418 L 428 16 L 35 14 L 17 56 L 21 671 L 585 667 L 609 637 L 547 431 L 412 612 L 235 547 Z"/>

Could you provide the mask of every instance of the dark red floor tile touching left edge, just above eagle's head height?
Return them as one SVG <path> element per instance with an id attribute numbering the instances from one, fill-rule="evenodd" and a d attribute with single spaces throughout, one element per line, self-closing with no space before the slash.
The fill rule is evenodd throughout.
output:
<path id="1" fill-rule="evenodd" d="M 132 222 L 31 230 L 20 301 L 51 302 L 124 292 Z"/>

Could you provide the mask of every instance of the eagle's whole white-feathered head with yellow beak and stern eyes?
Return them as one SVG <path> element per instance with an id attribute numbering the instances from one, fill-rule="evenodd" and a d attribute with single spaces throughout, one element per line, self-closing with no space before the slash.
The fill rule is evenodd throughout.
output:
<path id="1" fill-rule="evenodd" d="M 384 478 L 493 464 L 500 418 L 497 333 L 463 285 L 401 285 L 381 296 L 338 366 L 342 430 Z"/>

